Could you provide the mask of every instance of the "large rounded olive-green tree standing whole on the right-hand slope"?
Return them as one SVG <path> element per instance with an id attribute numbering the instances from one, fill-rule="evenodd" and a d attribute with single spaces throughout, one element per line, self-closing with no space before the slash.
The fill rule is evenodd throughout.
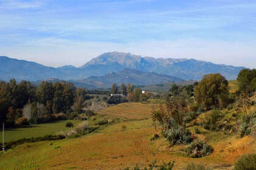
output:
<path id="1" fill-rule="evenodd" d="M 195 95 L 198 103 L 205 109 L 211 106 L 225 107 L 229 101 L 228 81 L 220 73 L 204 75 L 200 83 L 195 87 Z"/>

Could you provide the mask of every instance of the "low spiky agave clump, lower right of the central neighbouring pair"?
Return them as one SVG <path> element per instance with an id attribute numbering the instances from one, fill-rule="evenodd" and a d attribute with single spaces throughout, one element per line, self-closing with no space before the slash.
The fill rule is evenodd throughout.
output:
<path id="1" fill-rule="evenodd" d="M 206 141 L 196 140 L 188 146 L 186 152 L 190 157 L 199 158 L 212 154 L 213 148 Z"/>

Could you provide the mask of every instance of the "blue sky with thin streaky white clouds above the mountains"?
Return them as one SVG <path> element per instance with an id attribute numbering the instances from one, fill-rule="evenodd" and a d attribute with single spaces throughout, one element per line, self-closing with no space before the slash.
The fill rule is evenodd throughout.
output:
<path id="1" fill-rule="evenodd" d="M 104 52 L 256 67 L 255 0 L 0 0 L 0 56 L 82 66 Z"/>

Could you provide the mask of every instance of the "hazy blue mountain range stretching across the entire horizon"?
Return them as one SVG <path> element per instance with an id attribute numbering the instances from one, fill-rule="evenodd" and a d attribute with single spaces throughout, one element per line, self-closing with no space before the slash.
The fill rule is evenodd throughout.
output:
<path id="1" fill-rule="evenodd" d="M 142 74 L 142 72 L 143 74 L 154 72 L 159 75 L 169 75 L 172 78 L 176 77 L 182 80 L 201 80 L 203 75 L 207 73 L 221 73 L 228 80 L 233 80 L 244 67 L 226 66 L 224 64 L 214 64 L 207 61 L 185 58 L 142 57 L 123 52 L 103 53 L 81 67 L 63 66 L 57 68 L 43 66 L 42 64 L 25 60 L 16 60 L 7 56 L 0 56 L 0 80 L 4 81 L 9 81 L 10 78 L 15 78 L 19 81 L 38 81 L 58 78 L 60 80 L 79 80 L 81 82 L 86 80 L 85 82 L 87 83 L 90 80 L 94 80 L 108 84 L 104 80 L 105 77 L 109 76 L 108 74 L 121 72 L 124 69 L 141 71 L 138 74 Z"/>

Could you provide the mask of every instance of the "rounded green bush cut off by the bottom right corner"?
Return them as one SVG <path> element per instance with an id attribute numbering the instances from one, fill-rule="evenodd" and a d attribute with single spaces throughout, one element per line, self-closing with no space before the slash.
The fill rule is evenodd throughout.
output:
<path id="1" fill-rule="evenodd" d="M 242 155 L 235 163 L 235 170 L 256 170 L 256 154 Z"/>

